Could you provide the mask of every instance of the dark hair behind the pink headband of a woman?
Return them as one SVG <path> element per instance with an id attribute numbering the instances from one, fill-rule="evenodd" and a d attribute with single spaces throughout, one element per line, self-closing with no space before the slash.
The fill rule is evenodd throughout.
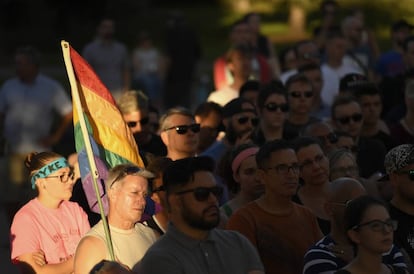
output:
<path id="1" fill-rule="evenodd" d="M 224 183 L 233 194 L 237 194 L 240 191 L 240 185 L 233 178 L 231 165 L 237 155 L 251 147 L 257 147 L 257 145 L 253 143 L 246 143 L 238 145 L 233 149 L 229 149 L 218 163 L 218 175 L 223 178 Z"/>

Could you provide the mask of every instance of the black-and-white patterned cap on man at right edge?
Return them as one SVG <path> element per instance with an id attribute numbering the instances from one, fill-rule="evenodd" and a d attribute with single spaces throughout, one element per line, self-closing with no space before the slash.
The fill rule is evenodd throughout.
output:
<path id="1" fill-rule="evenodd" d="M 403 144 L 394 147 L 385 155 L 384 166 L 388 174 L 414 164 L 414 145 Z"/>

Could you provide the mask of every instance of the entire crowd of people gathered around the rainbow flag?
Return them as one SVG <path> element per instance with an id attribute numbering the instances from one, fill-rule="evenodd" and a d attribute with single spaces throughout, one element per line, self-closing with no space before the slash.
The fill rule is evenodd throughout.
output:
<path id="1" fill-rule="evenodd" d="M 200 49 L 181 16 L 168 62 L 148 32 L 131 59 L 102 20 L 82 55 L 145 165 L 109 170 L 105 220 L 89 208 L 76 155 L 52 152 L 68 142 L 70 98 L 40 73 L 36 49 L 19 48 L 17 77 L 0 90 L 6 191 L 24 203 L 13 263 L 22 273 L 414 273 L 414 26 L 393 23 L 382 53 L 363 12 L 339 21 L 339 9 L 323 1 L 312 39 L 279 55 L 260 14 L 237 20 L 214 91 L 194 110 Z"/>

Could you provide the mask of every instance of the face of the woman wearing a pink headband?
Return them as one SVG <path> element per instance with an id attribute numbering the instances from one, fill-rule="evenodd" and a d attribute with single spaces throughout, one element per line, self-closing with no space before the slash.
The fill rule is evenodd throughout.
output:
<path id="1" fill-rule="evenodd" d="M 240 192 L 252 199 L 260 197 L 264 193 L 264 185 L 257 176 L 257 165 L 255 156 L 247 157 L 239 167 L 234 180 L 240 184 Z"/>

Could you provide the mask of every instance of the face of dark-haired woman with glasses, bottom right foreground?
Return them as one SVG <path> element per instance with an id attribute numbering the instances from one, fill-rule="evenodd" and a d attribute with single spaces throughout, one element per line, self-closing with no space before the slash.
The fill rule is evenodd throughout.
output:
<path id="1" fill-rule="evenodd" d="M 348 231 L 348 236 L 358 250 L 380 255 L 391 249 L 393 233 L 388 211 L 382 205 L 372 205 L 366 209 L 358 228 Z"/>

